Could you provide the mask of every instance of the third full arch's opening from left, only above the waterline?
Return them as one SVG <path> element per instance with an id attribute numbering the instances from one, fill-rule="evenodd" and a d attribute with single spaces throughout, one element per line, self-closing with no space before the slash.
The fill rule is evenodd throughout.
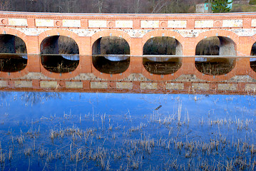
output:
<path id="1" fill-rule="evenodd" d="M 183 55 L 179 41 L 167 36 L 148 39 L 143 46 L 143 55 Z"/>

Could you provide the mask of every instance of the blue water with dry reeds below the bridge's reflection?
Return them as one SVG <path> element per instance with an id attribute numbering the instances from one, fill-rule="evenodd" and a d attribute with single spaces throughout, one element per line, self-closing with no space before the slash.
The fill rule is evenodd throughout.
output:
<path id="1" fill-rule="evenodd" d="M 255 170 L 255 97 L 1 92 L 1 170 Z"/>

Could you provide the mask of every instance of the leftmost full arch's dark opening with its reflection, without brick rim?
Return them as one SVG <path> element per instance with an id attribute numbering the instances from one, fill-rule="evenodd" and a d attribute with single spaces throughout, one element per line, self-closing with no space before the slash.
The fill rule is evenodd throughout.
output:
<path id="1" fill-rule="evenodd" d="M 68 36 L 49 36 L 40 45 L 41 64 L 53 73 L 75 71 L 79 64 L 79 48 Z"/>

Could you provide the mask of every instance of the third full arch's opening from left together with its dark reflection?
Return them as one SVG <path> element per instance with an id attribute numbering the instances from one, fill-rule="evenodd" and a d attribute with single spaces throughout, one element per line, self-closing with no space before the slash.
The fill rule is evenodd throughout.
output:
<path id="1" fill-rule="evenodd" d="M 170 56 L 182 56 L 183 46 L 172 37 L 153 37 L 143 46 L 143 55 L 148 55 L 143 57 L 143 66 L 146 71 L 156 75 L 168 75 L 175 73 L 182 66 L 182 58 Z"/>

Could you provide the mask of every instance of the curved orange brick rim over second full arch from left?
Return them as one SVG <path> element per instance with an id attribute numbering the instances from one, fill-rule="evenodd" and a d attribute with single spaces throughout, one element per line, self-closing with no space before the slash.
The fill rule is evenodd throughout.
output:
<path id="1" fill-rule="evenodd" d="M 93 43 L 95 43 L 98 38 L 107 37 L 107 36 L 116 36 L 125 39 L 128 45 L 131 47 L 131 38 L 128 33 L 117 30 L 106 30 L 106 31 L 98 31 L 93 36 L 91 36 L 91 48 L 93 47 Z"/>

